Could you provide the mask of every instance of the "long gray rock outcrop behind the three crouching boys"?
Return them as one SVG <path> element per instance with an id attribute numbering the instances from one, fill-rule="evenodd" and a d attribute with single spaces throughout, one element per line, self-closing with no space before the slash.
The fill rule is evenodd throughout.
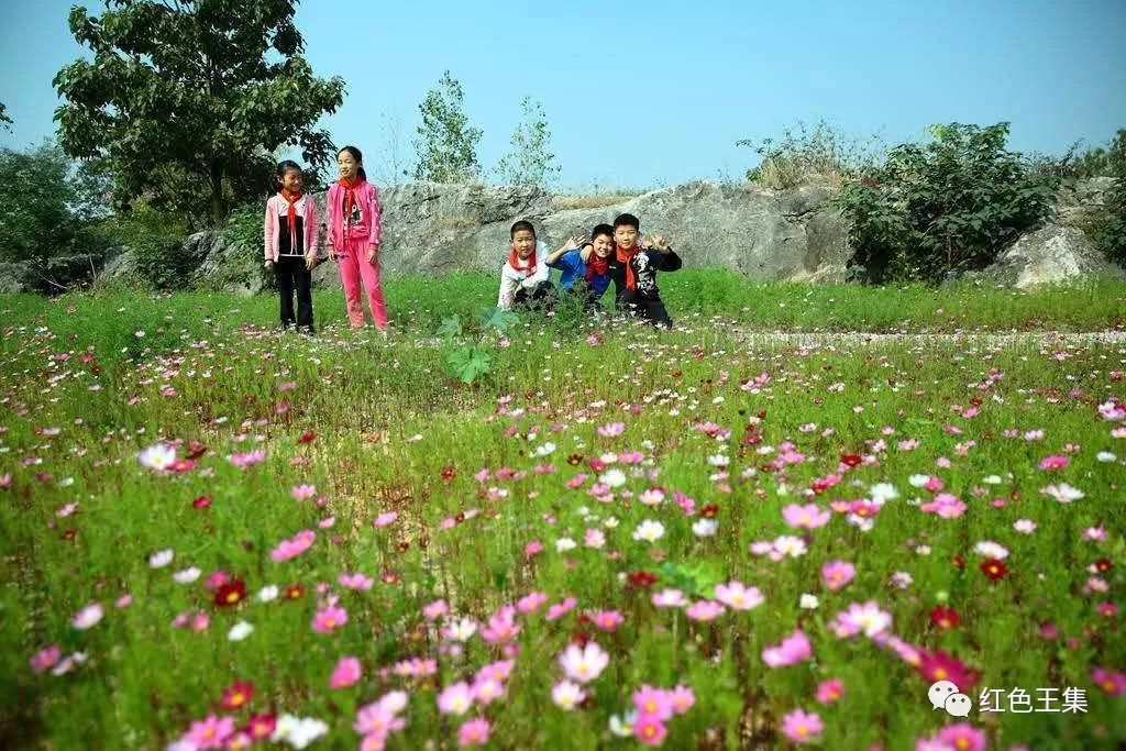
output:
<path id="1" fill-rule="evenodd" d="M 509 227 L 528 220 L 551 248 L 622 213 L 664 234 L 695 267 L 727 267 L 763 279 L 841 280 L 851 254 L 828 188 L 775 191 L 689 182 L 614 205 L 556 211 L 537 188 L 421 182 L 381 193 L 383 269 L 395 274 L 495 271 Z"/>

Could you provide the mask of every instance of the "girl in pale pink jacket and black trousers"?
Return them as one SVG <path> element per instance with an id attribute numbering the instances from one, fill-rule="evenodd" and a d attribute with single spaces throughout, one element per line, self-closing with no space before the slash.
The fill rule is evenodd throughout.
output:
<path id="1" fill-rule="evenodd" d="M 316 202 L 302 193 L 302 171 L 288 159 L 278 164 L 278 193 L 266 202 L 266 268 L 277 272 L 282 293 L 282 328 L 296 325 L 313 333 L 312 275 L 316 266 Z M 297 293 L 297 314 L 293 294 Z"/>

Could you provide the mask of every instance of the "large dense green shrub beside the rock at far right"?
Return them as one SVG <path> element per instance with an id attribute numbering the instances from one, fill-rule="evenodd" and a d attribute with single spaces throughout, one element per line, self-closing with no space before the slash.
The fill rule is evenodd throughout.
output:
<path id="1" fill-rule="evenodd" d="M 1060 178 L 1006 150 L 1009 124 L 931 126 L 848 180 L 838 206 L 870 281 L 937 281 L 981 269 L 1047 216 Z"/>

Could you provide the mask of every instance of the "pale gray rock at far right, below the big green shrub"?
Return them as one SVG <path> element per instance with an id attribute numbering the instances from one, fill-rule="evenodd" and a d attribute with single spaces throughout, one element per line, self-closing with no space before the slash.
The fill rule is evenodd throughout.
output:
<path id="1" fill-rule="evenodd" d="M 1107 261 L 1081 230 L 1049 224 L 1020 238 L 984 274 L 1026 289 L 1094 275 L 1121 275 L 1121 269 Z"/>

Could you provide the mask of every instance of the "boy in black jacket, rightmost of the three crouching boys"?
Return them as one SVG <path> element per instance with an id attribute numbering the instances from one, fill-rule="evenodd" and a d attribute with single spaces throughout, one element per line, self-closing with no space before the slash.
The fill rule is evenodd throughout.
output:
<path id="1" fill-rule="evenodd" d="M 614 220 L 615 251 L 610 253 L 607 272 L 614 280 L 614 305 L 619 313 L 638 315 L 653 325 L 672 328 L 672 319 L 656 288 L 658 271 L 676 271 L 680 257 L 672 252 L 664 238 L 655 235 L 652 245 L 637 245 L 641 222 L 633 214 Z"/>

